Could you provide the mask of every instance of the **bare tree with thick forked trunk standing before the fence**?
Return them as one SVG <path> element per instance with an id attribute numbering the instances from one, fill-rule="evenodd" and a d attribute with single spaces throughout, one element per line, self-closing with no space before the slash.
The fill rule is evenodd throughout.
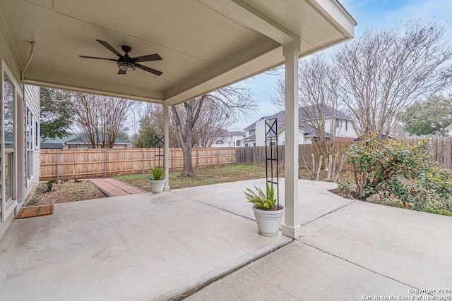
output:
<path id="1" fill-rule="evenodd" d="M 194 145 L 194 130 L 204 104 L 214 104 L 222 118 L 235 118 L 239 113 L 256 109 L 251 92 L 243 87 L 230 86 L 182 104 L 183 110 L 171 106 L 174 125 L 184 154 L 184 171 L 181 176 L 196 176 L 191 162 L 191 147 Z M 182 112 L 184 112 L 182 114 Z"/>

